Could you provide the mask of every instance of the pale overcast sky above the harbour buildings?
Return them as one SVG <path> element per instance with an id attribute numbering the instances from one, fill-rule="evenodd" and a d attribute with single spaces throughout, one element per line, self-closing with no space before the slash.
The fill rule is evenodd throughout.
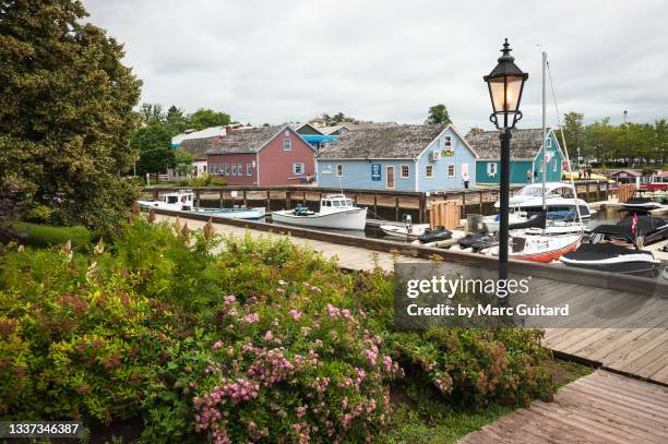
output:
<path id="1" fill-rule="evenodd" d="M 522 127 L 540 127 L 540 53 L 560 111 L 586 121 L 668 118 L 668 2 L 84 0 L 126 45 L 142 100 L 224 110 L 253 124 L 343 111 L 420 123 L 443 103 L 490 128 L 482 75 L 509 37 L 529 80 Z M 548 123 L 556 124 L 549 100 Z"/>

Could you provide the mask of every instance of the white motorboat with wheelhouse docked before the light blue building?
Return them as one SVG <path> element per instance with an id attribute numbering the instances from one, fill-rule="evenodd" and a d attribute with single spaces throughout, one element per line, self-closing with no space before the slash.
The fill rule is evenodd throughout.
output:
<path id="1" fill-rule="evenodd" d="M 367 225 L 367 208 L 355 206 L 344 194 L 327 194 L 320 201 L 320 212 L 298 205 L 295 209 L 273 212 L 272 219 L 302 227 L 361 231 Z"/>

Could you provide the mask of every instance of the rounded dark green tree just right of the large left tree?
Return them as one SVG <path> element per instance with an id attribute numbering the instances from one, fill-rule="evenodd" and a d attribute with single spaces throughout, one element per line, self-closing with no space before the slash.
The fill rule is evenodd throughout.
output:
<path id="1" fill-rule="evenodd" d="M 165 172 L 176 166 L 175 149 L 171 147 L 171 135 L 163 123 L 156 122 L 140 128 L 130 141 L 131 146 L 139 151 L 136 172 Z"/>

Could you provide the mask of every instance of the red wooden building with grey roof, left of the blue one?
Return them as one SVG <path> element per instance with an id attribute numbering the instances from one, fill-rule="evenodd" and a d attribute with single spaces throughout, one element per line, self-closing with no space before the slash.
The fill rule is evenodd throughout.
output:
<path id="1" fill-rule="evenodd" d="M 314 167 L 314 148 L 287 124 L 230 130 L 207 152 L 208 173 L 231 185 L 299 184 Z"/>

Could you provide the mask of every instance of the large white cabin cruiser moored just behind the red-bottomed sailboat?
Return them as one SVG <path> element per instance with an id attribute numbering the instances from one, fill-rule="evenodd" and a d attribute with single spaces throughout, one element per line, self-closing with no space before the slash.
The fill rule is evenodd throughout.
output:
<path id="1" fill-rule="evenodd" d="M 589 205 L 582 199 L 575 199 L 574 188 L 570 183 L 547 182 L 545 184 L 545 203 L 548 212 L 574 212 L 575 205 L 580 207 L 580 216 L 588 219 L 592 216 Z M 520 193 L 510 197 L 509 206 L 526 213 L 540 213 L 542 211 L 542 183 L 530 183 Z M 494 203 L 499 207 L 499 202 Z"/>

